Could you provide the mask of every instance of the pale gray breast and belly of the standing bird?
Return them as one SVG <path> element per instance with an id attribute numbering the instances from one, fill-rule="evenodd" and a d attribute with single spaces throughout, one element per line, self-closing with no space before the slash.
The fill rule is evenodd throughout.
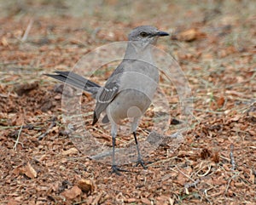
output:
<path id="1" fill-rule="evenodd" d="M 141 117 L 153 100 L 159 82 L 158 70 L 151 65 L 140 65 L 126 67 L 119 78 L 119 93 L 107 108 L 108 117 L 116 123 L 127 117 Z"/>

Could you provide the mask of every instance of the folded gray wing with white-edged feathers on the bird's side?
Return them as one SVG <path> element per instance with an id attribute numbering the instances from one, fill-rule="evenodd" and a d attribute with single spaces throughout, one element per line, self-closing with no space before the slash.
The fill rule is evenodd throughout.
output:
<path id="1" fill-rule="evenodd" d="M 108 107 L 109 103 L 116 97 L 119 93 L 119 78 L 124 71 L 124 61 L 113 71 L 112 75 L 108 78 L 105 86 L 99 89 L 96 95 L 96 108 L 93 113 L 94 125 L 102 113 Z"/>

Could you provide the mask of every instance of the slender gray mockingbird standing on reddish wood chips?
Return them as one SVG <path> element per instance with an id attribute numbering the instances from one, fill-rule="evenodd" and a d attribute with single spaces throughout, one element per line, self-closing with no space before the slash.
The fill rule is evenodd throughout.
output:
<path id="1" fill-rule="evenodd" d="M 93 114 L 95 124 L 100 115 L 105 113 L 102 122 L 111 123 L 113 142 L 112 172 L 119 174 L 125 171 L 117 167 L 114 158 L 114 145 L 118 124 L 127 117 L 133 119 L 131 132 L 137 146 L 137 165 L 146 168 L 137 143 L 137 125 L 140 117 L 147 111 L 151 104 L 159 82 L 159 71 L 154 66 L 152 45 L 158 37 L 168 36 L 164 31 L 159 31 L 154 26 L 138 26 L 128 36 L 129 42 L 125 57 L 103 87 L 79 76 L 71 71 L 55 71 L 55 74 L 46 74 L 57 80 L 84 89 L 96 99 Z"/>

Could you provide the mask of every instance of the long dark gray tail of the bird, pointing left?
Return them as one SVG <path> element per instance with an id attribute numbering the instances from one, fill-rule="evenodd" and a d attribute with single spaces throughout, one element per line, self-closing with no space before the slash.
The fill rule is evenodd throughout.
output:
<path id="1" fill-rule="evenodd" d="M 55 71 L 55 73 L 56 74 L 44 74 L 44 75 L 48 77 L 53 77 L 59 81 L 70 84 L 76 88 L 83 89 L 84 91 L 89 92 L 90 94 L 93 94 L 93 96 L 95 96 L 99 88 L 101 88 L 101 86 L 98 85 L 97 83 L 94 83 L 84 77 L 81 77 L 72 71 Z"/>

